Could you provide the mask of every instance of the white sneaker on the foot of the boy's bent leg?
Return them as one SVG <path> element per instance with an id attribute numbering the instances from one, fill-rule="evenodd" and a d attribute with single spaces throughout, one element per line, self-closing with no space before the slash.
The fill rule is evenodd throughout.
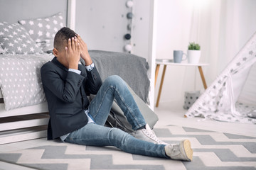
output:
<path id="1" fill-rule="evenodd" d="M 134 137 L 139 140 L 153 142 L 154 144 L 168 145 L 166 142 L 163 142 L 156 137 L 156 134 L 151 130 L 148 124 L 146 124 L 145 129 L 137 130 Z"/>

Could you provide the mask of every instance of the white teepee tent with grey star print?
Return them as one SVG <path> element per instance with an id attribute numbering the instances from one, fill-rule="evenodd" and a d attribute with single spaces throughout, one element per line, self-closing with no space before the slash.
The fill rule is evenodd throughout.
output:
<path id="1" fill-rule="evenodd" d="M 188 118 L 256 123 L 247 113 L 256 109 L 256 33 L 223 72 L 188 109 Z"/>

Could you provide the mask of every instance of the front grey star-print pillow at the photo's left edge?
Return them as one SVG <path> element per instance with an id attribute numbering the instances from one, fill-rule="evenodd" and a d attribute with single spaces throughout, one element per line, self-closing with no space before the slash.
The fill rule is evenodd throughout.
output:
<path id="1" fill-rule="evenodd" d="M 0 47 L 4 54 L 29 55 L 42 52 L 41 47 L 18 23 L 0 22 Z"/>

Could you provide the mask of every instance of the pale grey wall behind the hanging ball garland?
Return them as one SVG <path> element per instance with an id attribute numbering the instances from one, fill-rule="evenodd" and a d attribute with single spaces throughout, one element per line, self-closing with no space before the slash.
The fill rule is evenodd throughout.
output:
<path id="1" fill-rule="evenodd" d="M 124 45 L 132 44 L 132 54 L 148 58 L 150 2 L 134 1 L 132 7 L 132 39 L 125 40 L 124 35 L 130 21 L 127 13 L 131 8 L 127 0 L 77 0 L 75 13 L 75 31 L 80 33 L 90 50 L 108 50 L 125 52 Z"/>

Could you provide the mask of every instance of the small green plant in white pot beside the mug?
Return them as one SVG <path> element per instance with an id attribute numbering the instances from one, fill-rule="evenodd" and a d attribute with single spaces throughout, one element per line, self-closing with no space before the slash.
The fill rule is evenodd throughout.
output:
<path id="1" fill-rule="evenodd" d="M 190 42 L 188 45 L 188 63 L 198 64 L 201 57 L 200 45 L 196 42 Z"/>

